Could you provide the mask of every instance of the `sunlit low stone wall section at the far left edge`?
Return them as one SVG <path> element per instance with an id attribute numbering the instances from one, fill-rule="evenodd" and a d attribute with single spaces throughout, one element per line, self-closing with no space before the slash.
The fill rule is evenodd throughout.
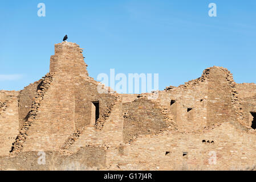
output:
<path id="1" fill-rule="evenodd" d="M 18 92 L 0 91 L 0 155 L 9 155 L 19 131 Z"/>

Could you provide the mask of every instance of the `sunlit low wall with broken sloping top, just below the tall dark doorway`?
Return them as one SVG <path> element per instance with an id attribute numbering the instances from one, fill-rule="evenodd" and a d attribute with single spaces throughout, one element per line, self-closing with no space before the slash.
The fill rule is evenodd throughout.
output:
<path id="1" fill-rule="evenodd" d="M 84 127 L 79 135 L 67 140 L 62 149 L 76 152 L 83 146 L 103 146 L 106 149 L 119 147 L 120 144 L 123 144 L 123 121 L 122 102 L 117 100 L 114 102 L 104 125 L 100 128 L 95 125 Z"/>

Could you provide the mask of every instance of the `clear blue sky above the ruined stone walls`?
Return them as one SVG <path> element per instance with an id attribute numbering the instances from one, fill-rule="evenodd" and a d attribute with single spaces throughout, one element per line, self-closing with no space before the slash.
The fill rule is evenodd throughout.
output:
<path id="1" fill-rule="evenodd" d="M 37 15 L 38 3 L 46 16 Z M 208 15 L 216 3 L 217 17 Z M 54 44 L 84 48 L 88 72 L 159 73 L 159 89 L 229 69 L 256 82 L 256 1 L 1 1 L 0 89 L 19 90 L 49 70 Z"/>

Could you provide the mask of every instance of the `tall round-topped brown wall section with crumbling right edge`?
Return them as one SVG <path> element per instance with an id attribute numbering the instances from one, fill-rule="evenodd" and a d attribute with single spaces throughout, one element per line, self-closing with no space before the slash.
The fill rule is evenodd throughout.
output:
<path id="1" fill-rule="evenodd" d="M 226 68 L 210 68 L 207 125 L 228 121 L 245 130 L 249 128 L 245 121 L 241 98 L 238 96 L 237 84 L 232 74 Z"/>

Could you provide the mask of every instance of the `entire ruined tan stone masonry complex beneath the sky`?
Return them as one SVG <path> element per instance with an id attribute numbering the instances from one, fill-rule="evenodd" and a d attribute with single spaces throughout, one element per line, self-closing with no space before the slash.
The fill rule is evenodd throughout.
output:
<path id="1" fill-rule="evenodd" d="M 1 169 L 254 168 L 255 84 L 211 67 L 178 87 L 118 94 L 88 76 L 83 58 L 78 44 L 55 44 L 46 76 L 0 90 Z"/>

